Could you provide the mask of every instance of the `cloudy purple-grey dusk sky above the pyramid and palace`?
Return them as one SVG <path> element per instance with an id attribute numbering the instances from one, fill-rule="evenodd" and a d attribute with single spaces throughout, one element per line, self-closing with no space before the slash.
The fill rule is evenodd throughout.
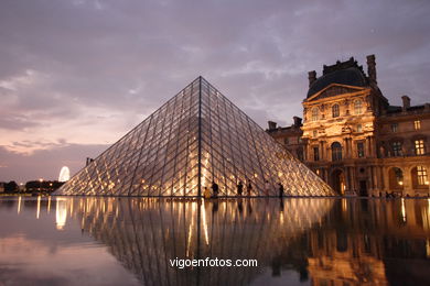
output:
<path id="1" fill-rule="evenodd" d="M 430 1 L 294 2 L 1 0 L 0 180 L 76 173 L 200 75 L 264 128 L 351 56 L 391 105 L 430 101 Z"/>

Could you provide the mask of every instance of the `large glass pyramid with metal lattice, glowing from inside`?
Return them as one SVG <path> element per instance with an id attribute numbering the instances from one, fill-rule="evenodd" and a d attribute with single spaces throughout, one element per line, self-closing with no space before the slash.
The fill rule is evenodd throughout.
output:
<path id="1" fill-rule="evenodd" d="M 319 176 L 198 77 L 55 195 L 193 197 L 215 182 L 219 196 L 236 196 L 239 180 L 245 196 L 278 196 L 278 183 L 289 196 L 334 195 Z"/>

